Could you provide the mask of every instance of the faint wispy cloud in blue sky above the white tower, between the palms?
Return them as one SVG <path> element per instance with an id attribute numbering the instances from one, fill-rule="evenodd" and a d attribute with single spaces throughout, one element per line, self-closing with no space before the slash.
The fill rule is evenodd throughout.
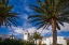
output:
<path id="1" fill-rule="evenodd" d="M 28 19 L 28 15 L 27 14 L 22 14 L 22 16 L 20 16 L 20 18 L 22 18 L 22 20 L 23 20 L 23 28 L 24 29 L 27 29 L 27 28 L 29 28 L 29 27 L 31 27 L 31 24 L 29 24 L 28 21 L 29 21 L 29 19 Z"/>

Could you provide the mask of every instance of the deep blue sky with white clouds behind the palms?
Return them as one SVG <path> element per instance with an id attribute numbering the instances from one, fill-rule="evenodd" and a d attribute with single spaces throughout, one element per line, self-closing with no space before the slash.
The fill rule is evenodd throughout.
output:
<path id="1" fill-rule="evenodd" d="M 32 33 L 36 30 L 36 27 L 33 27 L 32 24 L 28 24 L 28 15 L 33 14 L 32 10 L 29 9 L 30 4 L 37 5 L 37 0 L 10 0 L 10 5 L 13 4 L 14 8 L 12 9 L 12 12 L 16 12 L 19 14 L 20 20 L 18 19 L 18 27 L 6 28 L 1 27 L 0 28 L 0 34 L 14 34 L 17 38 L 23 39 L 23 33 L 28 30 L 30 33 Z M 50 28 L 51 29 L 51 28 Z M 41 31 L 41 29 L 39 29 Z M 39 32 L 40 32 L 39 31 Z M 58 31 L 58 35 L 63 35 L 66 39 L 69 38 L 69 25 L 65 22 L 65 27 L 61 27 L 61 30 Z M 51 30 L 44 30 L 42 32 L 43 36 L 51 36 L 52 31 Z"/>

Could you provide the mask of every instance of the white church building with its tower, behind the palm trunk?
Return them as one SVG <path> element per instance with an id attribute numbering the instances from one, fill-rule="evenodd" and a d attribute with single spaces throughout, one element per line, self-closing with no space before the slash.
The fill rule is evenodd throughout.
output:
<path id="1" fill-rule="evenodd" d="M 29 32 L 26 31 L 26 32 L 24 33 L 24 40 L 25 40 L 25 41 L 28 41 L 28 39 L 29 39 Z M 39 41 L 40 41 L 40 40 L 37 40 L 37 44 L 39 44 Z M 43 38 L 43 39 L 41 40 L 41 44 L 52 45 L 52 44 L 53 44 L 53 36 Z M 67 40 L 65 40 L 64 36 L 57 36 L 57 44 L 67 45 Z"/>

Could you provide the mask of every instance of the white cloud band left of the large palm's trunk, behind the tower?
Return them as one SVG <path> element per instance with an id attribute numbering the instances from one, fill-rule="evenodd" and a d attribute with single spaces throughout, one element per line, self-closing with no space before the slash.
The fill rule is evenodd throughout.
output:
<path id="1" fill-rule="evenodd" d="M 26 32 L 28 30 L 28 32 L 30 34 L 32 34 L 34 31 L 38 31 L 39 33 L 41 33 L 42 35 L 50 34 L 51 30 L 43 30 L 42 28 L 40 28 L 39 30 L 36 27 L 31 27 L 31 28 L 27 28 L 27 29 L 23 29 L 22 27 L 12 27 L 13 32 L 10 32 L 9 34 L 14 34 L 14 35 L 18 35 L 18 34 L 24 34 L 24 32 Z M 43 30 L 43 31 L 42 31 Z"/>

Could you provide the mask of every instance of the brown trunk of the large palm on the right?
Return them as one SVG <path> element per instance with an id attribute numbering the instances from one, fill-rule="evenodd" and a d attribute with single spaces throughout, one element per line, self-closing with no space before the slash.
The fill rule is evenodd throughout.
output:
<path id="1" fill-rule="evenodd" d="M 52 18 L 53 45 L 57 45 L 56 19 Z"/>

